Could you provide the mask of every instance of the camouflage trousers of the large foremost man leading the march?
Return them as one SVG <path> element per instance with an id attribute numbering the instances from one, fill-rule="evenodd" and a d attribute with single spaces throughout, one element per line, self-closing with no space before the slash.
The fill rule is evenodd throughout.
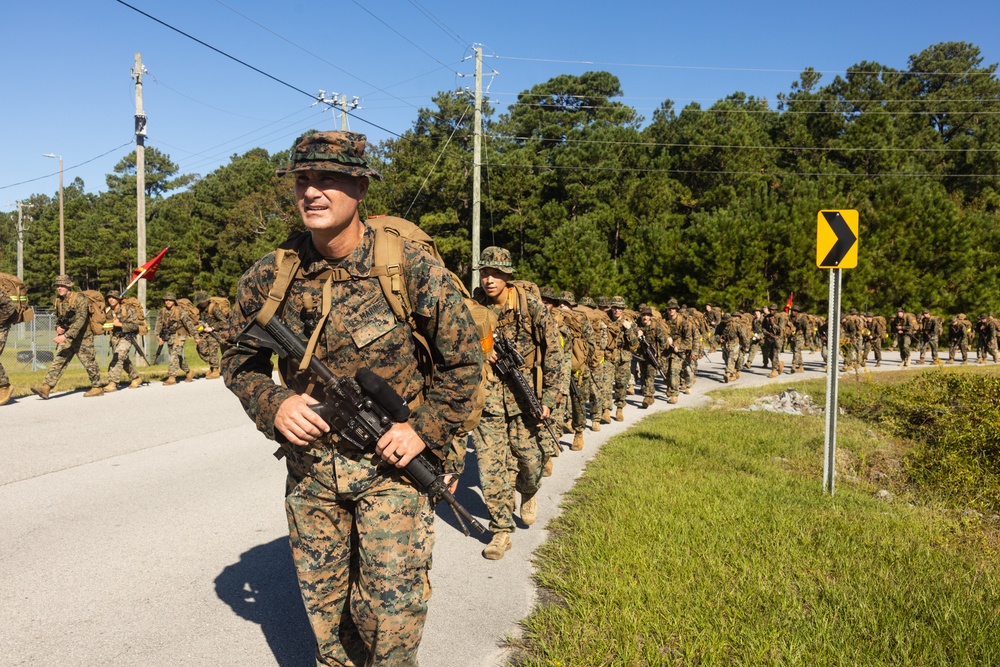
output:
<path id="1" fill-rule="evenodd" d="M 431 595 L 427 496 L 388 475 L 358 495 L 310 475 L 289 484 L 289 540 L 316 664 L 415 667 Z"/>

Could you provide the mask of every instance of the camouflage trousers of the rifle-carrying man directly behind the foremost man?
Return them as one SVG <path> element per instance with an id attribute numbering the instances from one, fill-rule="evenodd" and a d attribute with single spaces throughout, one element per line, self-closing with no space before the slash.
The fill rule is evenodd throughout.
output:
<path id="1" fill-rule="evenodd" d="M 514 529 L 515 491 L 526 496 L 538 492 L 549 458 L 539 443 L 541 437 L 536 426 L 525 423 L 524 415 L 508 419 L 487 412 L 472 432 L 490 531 Z"/>

